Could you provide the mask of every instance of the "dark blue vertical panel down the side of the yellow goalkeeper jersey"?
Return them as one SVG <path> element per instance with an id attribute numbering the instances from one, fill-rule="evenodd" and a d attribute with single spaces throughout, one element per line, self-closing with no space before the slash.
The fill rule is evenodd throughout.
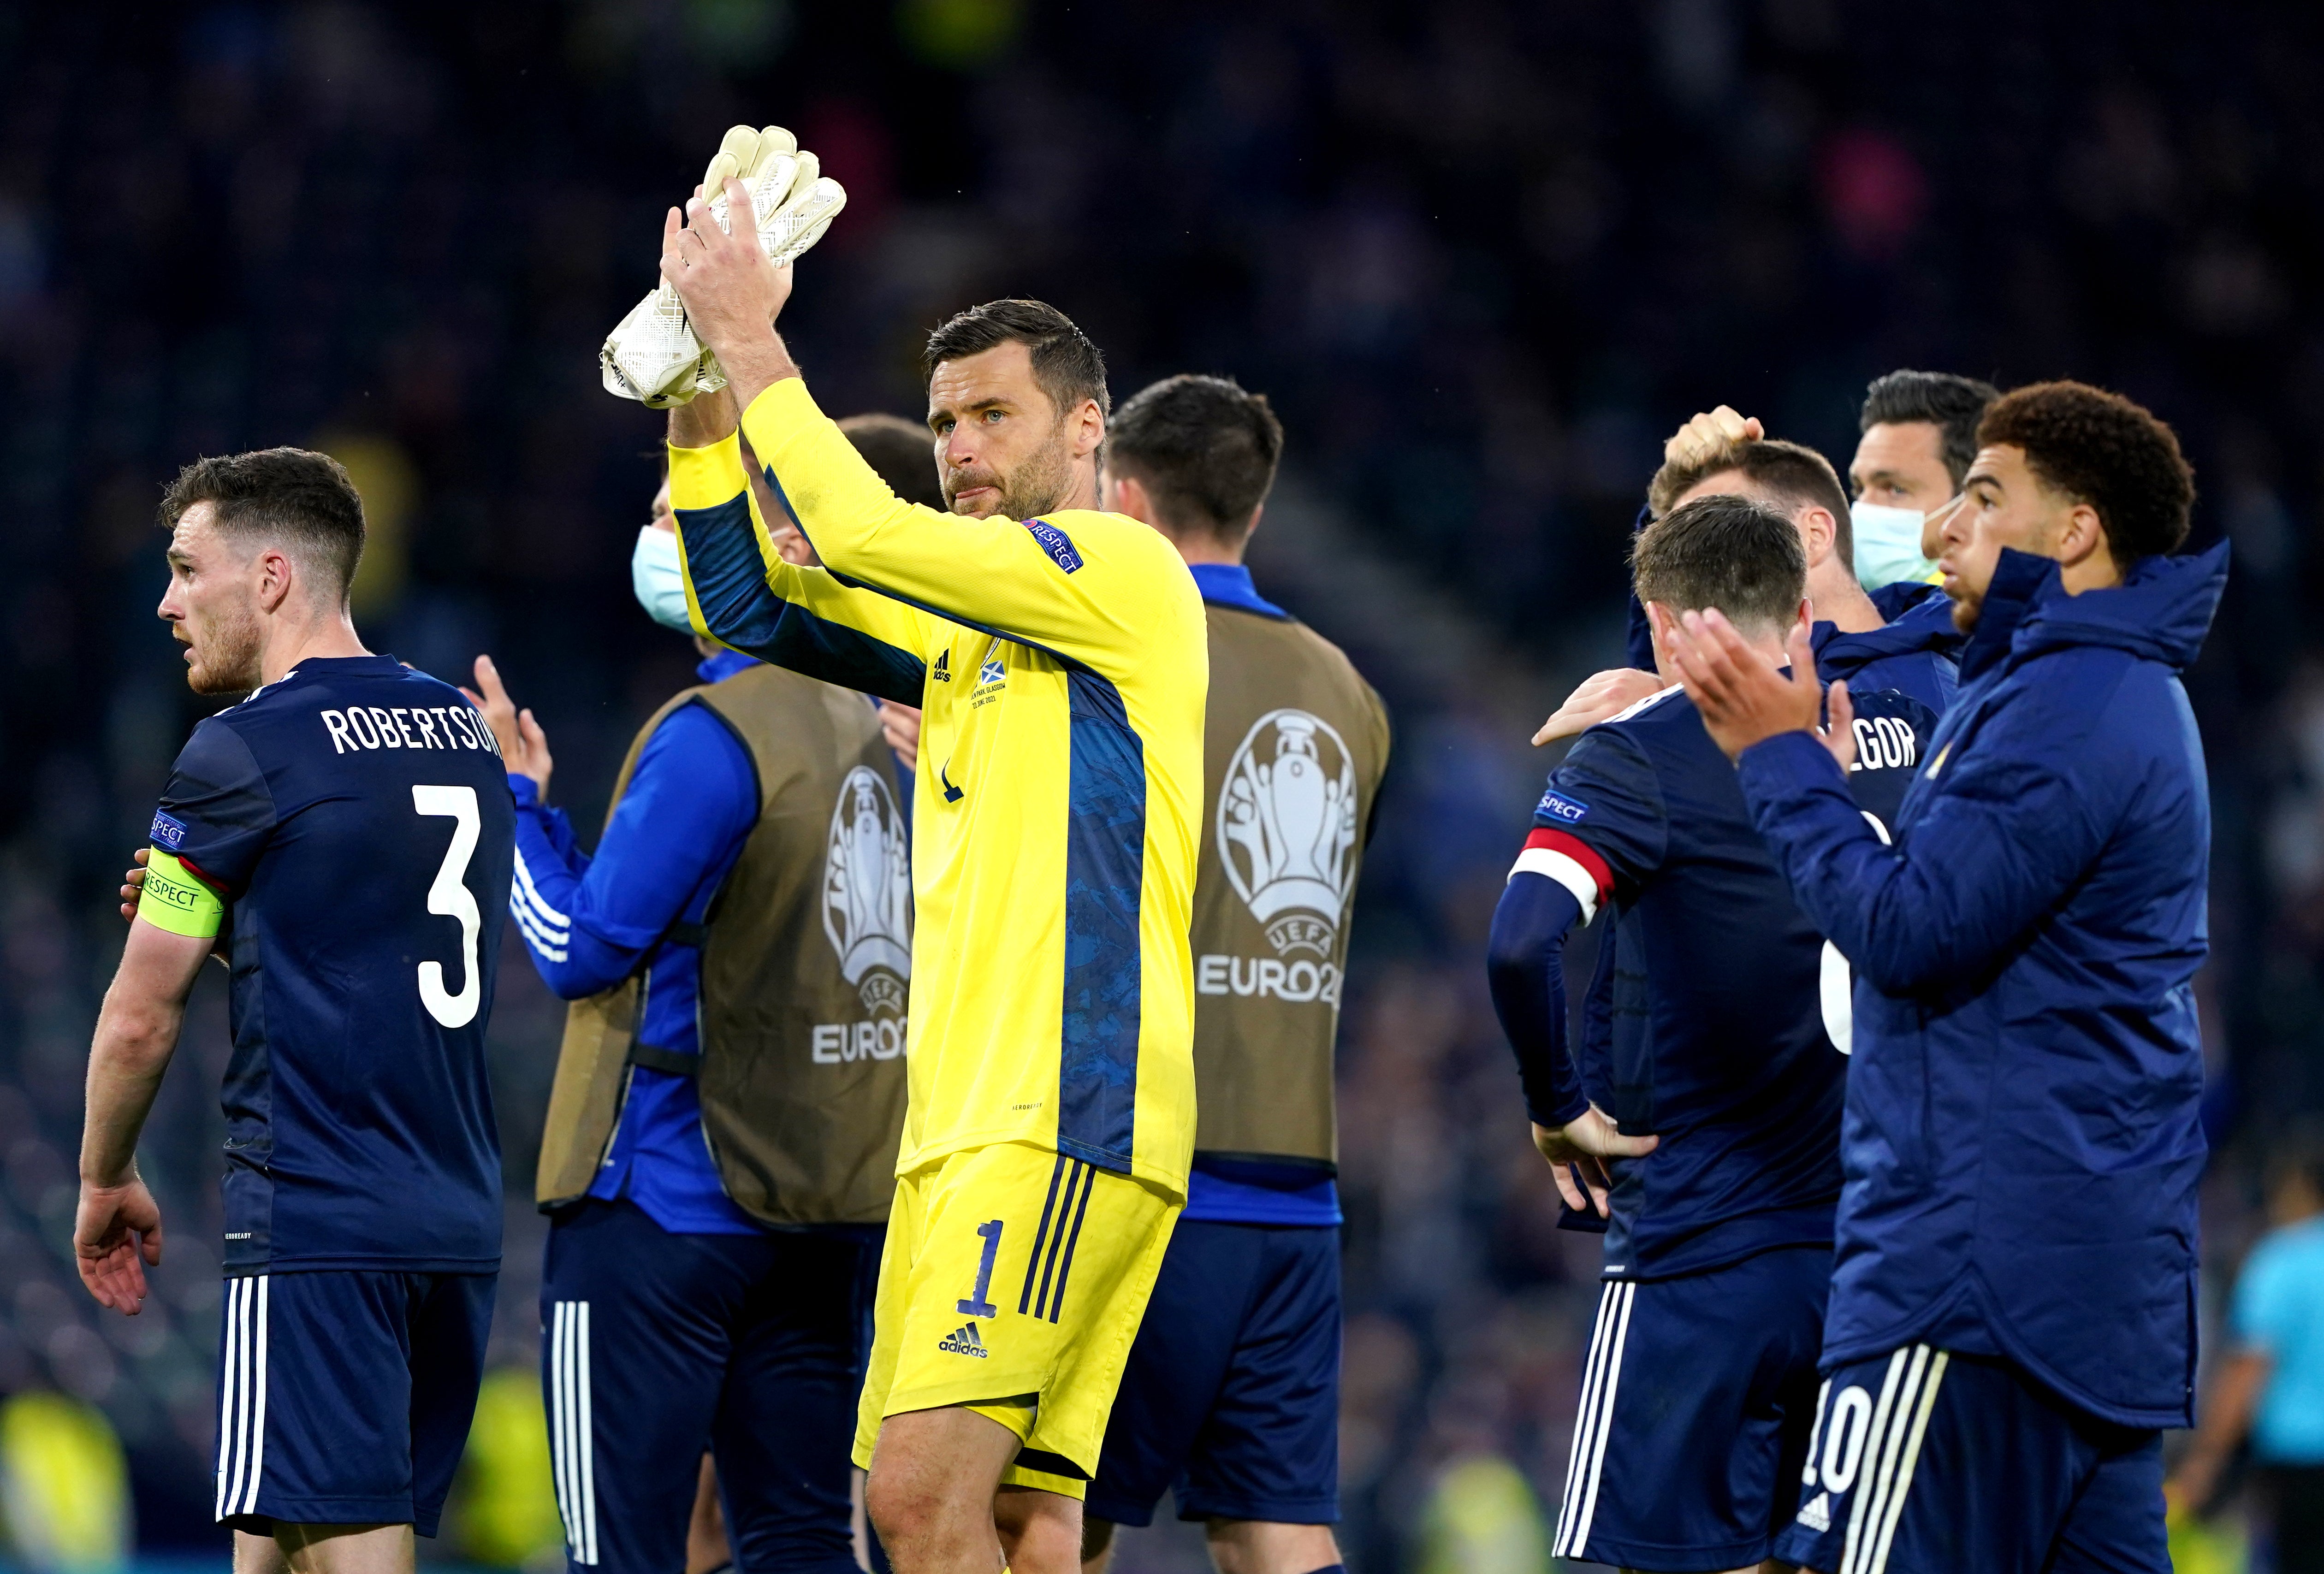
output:
<path id="1" fill-rule="evenodd" d="M 1071 784 L 1064 832 L 1064 1035 L 1057 1149 L 1129 1172 L 1139 1095 L 1139 890 L 1146 874 L 1146 746 L 1120 691 L 1067 670 Z"/>

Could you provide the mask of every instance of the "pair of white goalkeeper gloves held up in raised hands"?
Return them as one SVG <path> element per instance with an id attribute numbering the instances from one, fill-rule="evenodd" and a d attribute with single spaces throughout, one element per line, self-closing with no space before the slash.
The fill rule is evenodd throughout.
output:
<path id="1" fill-rule="evenodd" d="M 727 226 L 725 184 L 739 179 L 751 193 L 758 244 L 783 267 L 823 239 L 848 193 L 825 177 L 813 153 L 781 126 L 753 130 L 734 126 L 702 174 L 702 195 L 718 228 Z M 669 284 L 637 302 L 597 351 L 607 393 L 641 400 L 655 409 L 686 405 L 697 393 L 725 388 L 725 370 L 702 349 L 686 305 Z"/>

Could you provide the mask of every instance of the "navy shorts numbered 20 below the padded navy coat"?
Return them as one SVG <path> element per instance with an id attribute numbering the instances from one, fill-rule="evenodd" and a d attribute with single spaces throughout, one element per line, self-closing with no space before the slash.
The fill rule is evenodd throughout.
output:
<path id="1" fill-rule="evenodd" d="M 1801 1481 L 1776 1555 L 1824 1574 L 2171 1574 L 2161 1432 L 2006 1360 L 1913 1344 L 1836 1369 Z"/>

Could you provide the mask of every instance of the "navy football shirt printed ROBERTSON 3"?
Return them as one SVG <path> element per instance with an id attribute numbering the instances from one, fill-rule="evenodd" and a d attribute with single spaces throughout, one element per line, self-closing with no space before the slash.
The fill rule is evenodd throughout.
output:
<path id="1" fill-rule="evenodd" d="M 177 756 L 153 846 L 232 902 L 230 1274 L 497 1269 L 514 825 L 483 718 L 393 656 L 302 660 Z"/>

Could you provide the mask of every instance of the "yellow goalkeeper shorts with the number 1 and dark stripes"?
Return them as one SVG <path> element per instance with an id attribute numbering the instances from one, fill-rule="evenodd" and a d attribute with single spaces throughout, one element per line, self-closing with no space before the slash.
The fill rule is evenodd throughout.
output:
<path id="1" fill-rule="evenodd" d="M 1178 1207 L 1018 1142 L 902 1176 L 855 1462 L 871 1465 L 888 1416 L 962 1404 L 1023 1444 L 1002 1486 L 1081 1497 Z"/>

